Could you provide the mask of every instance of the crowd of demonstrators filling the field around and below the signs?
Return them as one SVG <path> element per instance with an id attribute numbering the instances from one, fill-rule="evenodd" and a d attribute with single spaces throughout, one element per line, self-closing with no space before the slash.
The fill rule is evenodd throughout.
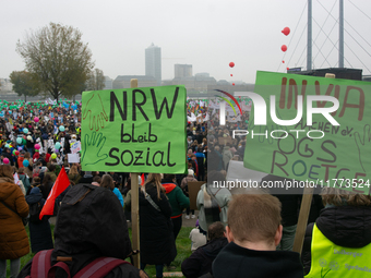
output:
<path id="1" fill-rule="evenodd" d="M 190 234 L 193 253 L 181 264 L 187 278 L 362 277 L 371 271 L 364 259 L 371 252 L 370 196 L 337 189 L 318 195 L 313 206 L 321 207 L 321 202 L 324 206 L 311 218 L 302 253 L 292 252 L 300 196 L 260 191 L 231 195 L 214 183 L 226 180 L 230 160 L 243 160 L 246 137 L 232 138 L 230 130 L 247 129 L 249 114 L 220 126 L 218 113 L 205 107 L 202 113 L 208 113 L 207 121 L 187 125 L 188 173 L 141 174 L 137 269 L 123 261 L 135 253 L 127 222 L 130 174 L 82 171 L 79 164 L 68 160 L 71 146 L 81 136 L 81 106 L 63 101 L 8 109 L 0 118 L 0 278 L 7 277 L 7 261 L 10 277 L 20 278 L 41 264 L 35 256 L 20 269 L 20 258 L 29 253 L 23 222 L 27 216 L 31 251 L 52 250 L 49 261 L 58 268 L 52 270 L 56 277 L 67 277 L 63 273 L 73 277 L 103 256 L 119 262 L 101 277 L 147 277 L 146 265 L 155 265 L 156 277 L 163 277 L 164 267 L 177 256 L 183 218 L 196 217 Z M 52 237 L 49 216 L 39 219 L 35 214 L 62 167 L 70 186 L 56 201 L 58 220 Z M 190 209 L 188 188 L 194 181 L 204 182 L 195 200 L 198 216 Z"/>

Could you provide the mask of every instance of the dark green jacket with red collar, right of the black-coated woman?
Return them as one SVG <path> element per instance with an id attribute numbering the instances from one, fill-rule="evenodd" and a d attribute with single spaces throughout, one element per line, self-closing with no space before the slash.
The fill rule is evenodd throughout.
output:
<path id="1" fill-rule="evenodd" d="M 190 206 L 190 200 L 183 193 L 183 191 L 177 186 L 171 180 L 161 180 L 161 184 L 166 190 L 166 195 L 169 198 L 171 206 L 171 218 L 182 216 L 182 210 Z"/>

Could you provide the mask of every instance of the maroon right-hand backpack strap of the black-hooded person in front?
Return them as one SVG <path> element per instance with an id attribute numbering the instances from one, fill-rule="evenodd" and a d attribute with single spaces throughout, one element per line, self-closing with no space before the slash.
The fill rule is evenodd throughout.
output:
<path id="1" fill-rule="evenodd" d="M 115 257 L 98 257 L 76 273 L 73 278 L 103 278 L 108 275 L 115 267 L 130 264 L 127 261 L 115 258 Z"/>

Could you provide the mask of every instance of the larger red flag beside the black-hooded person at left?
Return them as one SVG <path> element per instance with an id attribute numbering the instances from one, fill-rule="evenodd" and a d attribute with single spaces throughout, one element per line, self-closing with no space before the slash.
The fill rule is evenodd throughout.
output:
<path id="1" fill-rule="evenodd" d="M 41 220 L 45 215 L 52 215 L 55 210 L 56 198 L 70 185 L 69 177 L 64 171 L 64 167 L 60 170 L 55 185 L 51 188 L 49 196 L 44 204 L 39 219 Z"/>

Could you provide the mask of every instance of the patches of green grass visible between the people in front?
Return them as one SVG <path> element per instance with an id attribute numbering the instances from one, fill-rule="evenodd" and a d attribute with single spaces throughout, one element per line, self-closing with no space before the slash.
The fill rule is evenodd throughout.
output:
<path id="1" fill-rule="evenodd" d="M 51 231 L 53 231 L 55 226 L 51 225 Z M 191 232 L 191 230 L 193 229 L 193 227 L 182 227 L 179 235 L 177 238 L 177 251 L 178 251 L 178 255 L 176 257 L 176 259 L 171 263 L 171 266 L 175 266 L 176 269 L 171 270 L 171 273 L 173 271 L 181 271 L 181 263 L 189 257 L 192 252 L 191 252 L 191 240 L 189 239 L 189 234 Z M 28 226 L 26 227 L 26 231 L 28 234 L 28 239 L 29 239 L 29 231 L 28 231 Z M 129 234 L 131 237 L 131 229 L 129 229 Z M 31 244 L 31 243 L 29 243 Z M 34 253 L 29 253 L 25 256 L 23 256 L 21 258 L 21 269 L 22 267 L 31 259 L 34 257 Z M 144 269 L 149 277 L 155 277 L 156 276 L 156 269 L 154 265 L 147 265 Z M 8 269 L 7 269 L 7 277 L 10 276 L 9 273 L 9 261 L 8 261 Z M 166 268 L 164 268 L 164 273 L 166 273 Z"/>

